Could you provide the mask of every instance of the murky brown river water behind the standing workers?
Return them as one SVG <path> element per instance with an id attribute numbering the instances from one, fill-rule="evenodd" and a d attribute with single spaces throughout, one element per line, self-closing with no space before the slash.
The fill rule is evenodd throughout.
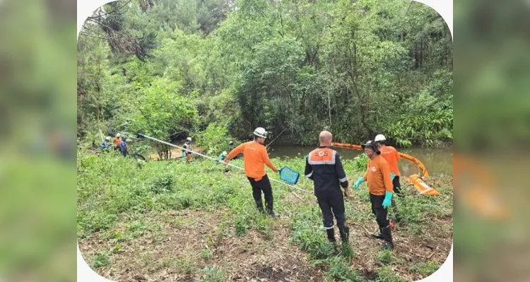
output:
<path id="1" fill-rule="evenodd" d="M 269 156 L 276 158 L 283 157 L 305 157 L 315 147 L 311 146 L 293 146 L 293 145 L 271 145 Z M 361 150 L 334 148 L 343 159 L 353 159 L 359 154 L 364 154 Z M 427 149 L 422 147 L 409 147 L 406 149 L 397 148 L 399 152 L 409 154 L 419 159 L 430 175 L 440 176 L 453 174 L 453 151 L 452 148 L 444 149 Z M 418 166 L 411 161 L 401 159 L 399 161 L 399 171 L 403 176 L 411 176 L 419 173 Z"/>

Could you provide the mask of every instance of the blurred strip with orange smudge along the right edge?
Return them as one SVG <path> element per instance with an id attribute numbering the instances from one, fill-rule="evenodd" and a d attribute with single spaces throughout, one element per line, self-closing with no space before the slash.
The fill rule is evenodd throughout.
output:
<path id="1" fill-rule="evenodd" d="M 454 278 L 530 281 L 530 1 L 454 1 Z"/>

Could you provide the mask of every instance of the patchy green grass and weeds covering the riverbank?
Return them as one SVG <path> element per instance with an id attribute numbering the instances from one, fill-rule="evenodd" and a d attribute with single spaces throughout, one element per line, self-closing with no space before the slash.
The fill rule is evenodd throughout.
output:
<path id="1" fill-rule="evenodd" d="M 363 174 L 364 161 L 343 161 L 348 178 L 355 180 Z M 305 166 L 302 159 L 273 159 L 273 163 L 300 172 Z M 222 165 L 211 161 L 193 161 L 190 164 L 184 161 L 148 161 L 139 168 L 131 159 L 80 152 L 77 164 L 78 238 L 105 240 L 105 244 L 110 246 L 93 257 L 94 269 L 110 266 L 112 255 L 121 253 L 120 256 L 123 256 L 124 250 L 130 250 L 128 246 L 136 242 L 165 242 L 167 235 L 163 232 L 167 228 L 178 231 L 180 228 L 201 226 L 202 219 L 181 215 L 199 211 L 218 214 L 213 223 L 215 230 L 208 228 L 208 233 L 200 238 L 208 248 L 201 247 L 193 254 L 177 258 L 141 255 L 139 259 L 143 265 L 149 266 L 150 271 L 170 269 L 194 275 L 200 281 L 224 281 L 227 275 L 223 269 L 213 265 L 204 267 L 204 263 L 213 264 L 218 259 L 212 251 L 218 242 L 242 240 L 252 233 L 267 241 L 269 247 L 278 247 L 275 245 L 276 231 L 288 226 L 290 243 L 307 252 L 311 264 L 325 269 L 327 280 L 363 281 L 362 276 L 351 267 L 356 255 L 351 244 L 343 247 L 339 241 L 338 250 L 335 250 L 334 245 L 327 241 L 310 180 L 302 178 L 298 184 L 299 188 L 307 190 L 307 193 L 296 191 L 304 198 L 303 203 L 285 199 L 289 195 L 288 189 L 272 183 L 276 211 L 288 214 L 278 220 L 257 212 L 252 190 L 242 171 L 232 169 L 227 176 Z M 242 161 L 235 160 L 232 164 L 242 166 Z M 269 177 L 278 178 L 273 173 L 269 173 Z M 396 198 L 402 218 L 401 232 L 422 235 L 433 217 L 452 214 L 452 190 L 441 188 L 440 192 L 443 192 L 440 197 L 418 197 L 409 191 L 405 197 Z M 351 190 L 351 200 L 345 203 L 349 222 L 375 226 L 368 195 L 365 183 L 360 190 Z M 247 252 L 261 252 L 257 245 L 249 244 L 244 248 Z M 396 260 L 389 251 L 380 251 L 375 259 L 387 266 L 404 263 Z M 387 266 L 378 270 L 377 281 L 403 281 Z M 428 276 L 435 269 L 437 265 L 432 263 L 413 264 L 409 271 Z"/>

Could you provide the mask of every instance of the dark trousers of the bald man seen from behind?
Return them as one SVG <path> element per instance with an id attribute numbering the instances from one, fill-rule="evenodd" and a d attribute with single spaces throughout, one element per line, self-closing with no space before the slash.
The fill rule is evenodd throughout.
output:
<path id="1" fill-rule="evenodd" d="M 325 195 L 317 195 L 317 201 L 322 211 L 322 222 L 324 228 L 334 228 L 333 217 L 337 220 L 339 228 L 346 226 L 346 214 L 344 213 L 344 196 L 342 192 L 332 192 Z"/>

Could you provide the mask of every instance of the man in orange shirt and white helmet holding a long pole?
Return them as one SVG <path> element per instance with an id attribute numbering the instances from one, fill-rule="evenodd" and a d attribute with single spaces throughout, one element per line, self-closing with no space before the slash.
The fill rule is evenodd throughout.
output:
<path id="1" fill-rule="evenodd" d="M 263 192 L 267 214 L 276 217 L 278 215 L 273 211 L 271 181 L 269 180 L 269 176 L 265 173 L 265 164 L 275 173 L 278 173 L 278 169 L 271 163 L 269 155 L 263 145 L 267 137 L 266 135 L 267 132 L 264 128 L 256 128 L 256 130 L 254 130 L 254 140 L 245 142 L 235 147 L 235 149 L 232 149 L 223 163 L 228 164 L 228 162 L 237 156 L 237 154 L 243 153 L 243 157 L 245 158 L 243 163 L 245 166 L 245 175 L 252 186 L 252 196 L 254 197 L 258 211 L 264 213 L 263 203 L 261 202 L 261 192 Z"/>

